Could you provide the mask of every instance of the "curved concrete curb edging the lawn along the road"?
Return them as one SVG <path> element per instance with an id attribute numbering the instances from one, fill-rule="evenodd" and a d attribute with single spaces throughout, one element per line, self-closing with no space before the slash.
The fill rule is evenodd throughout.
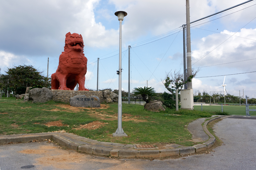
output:
<path id="1" fill-rule="evenodd" d="M 215 143 L 215 137 L 208 131 L 207 124 L 218 119 L 223 119 L 230 116 L 218 116 L 211 120 L 204 122 L 203 129 L 205 133 L 210 136 L 208 141 L 203 144 L 198 144 L 194 146 L 185 146 L 176 149 L 150 149 L 145 150 L 135 148 L 131 144 L 121 144 L 121 143 L 110 143 L 110 142 L 100 142 L 97 140 L 91 140 L 85 137 L 77 136 L 72 133 L 31 133 L 31 134 L 19 134 L 19 135 L 4 135 L 0 136 L 0 143 L 7 144 L 11 142 L 30 142 L 32 140 L 46 140 L 52 139 L 62 146 L 67 148 L 77 150 L 79 152 L 84 152 L 88 154 L 95 154 L 101 156 L 111 156 L 119 158 L 159 158 L 165 156 L 175 156 L 175 155 L 186 155 L 190 153 L 200 152 L 202 150 L 208 149 Z"/>

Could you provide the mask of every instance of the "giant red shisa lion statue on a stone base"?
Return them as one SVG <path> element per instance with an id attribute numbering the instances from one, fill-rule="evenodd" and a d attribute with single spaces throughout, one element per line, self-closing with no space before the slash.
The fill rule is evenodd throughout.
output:
<path id="1" fill-rule="evenodd" d="M 81 34 L 66 34 L 64 52 L 59 57 L 58 69 L 52 74 L 52 90 L 86 90 L 85 74 L 87 58 L 84 52 L 84 41 Z"/>

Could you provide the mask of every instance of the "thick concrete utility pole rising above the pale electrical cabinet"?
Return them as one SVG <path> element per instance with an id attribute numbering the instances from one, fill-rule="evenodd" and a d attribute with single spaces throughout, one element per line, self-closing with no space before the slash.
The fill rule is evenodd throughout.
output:
<path id="1" fill-rule="evenodd" d="M 189 0 L 186 0 L 186 25 L 187 25 L 187 67 L 188 67 L 187 77 L 189 77 L 190 75 L 192 75 Z M 187 83 L 187 88 L 192 89 L 192 81 Z"/>

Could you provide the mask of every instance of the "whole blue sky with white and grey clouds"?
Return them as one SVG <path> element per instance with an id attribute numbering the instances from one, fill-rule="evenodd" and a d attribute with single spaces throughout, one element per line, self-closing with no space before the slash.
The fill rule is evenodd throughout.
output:
<path id="1" fill-rule="evenodd" d="M 195 21 L 244 1 L 190 0 L 190 20 Z M 226 14 L 255 4 L 252 1 Z M 59 55 L 64 50 L 65 34 L 71 32 L 83 36 L 84 53 L 88 59 L 86 87 L 96 89 L 96 61 L 100 58 L 99 88 L 117 89 L 119 21 L 114 13 L 126 11 L 128 15 L 122 24 L 122 88 L 128 91 L 127 49 L 130 45 L 131 87 L 144 87 L 148 81 L 148 86 L 164 92 L 166 89 L 161 81 L 165 72 L 183 71 L 181 25 L 186 22 L 185 10 L 185 0 L 2 0 L 1 74 L 13 65 L 26 64 L 45 70 L 46 75 L 49 57 L 51 75 L 56 71 Z M 254 97 L 256 94 L 253 72 L 256 70 L 252 62 L 256 52 L 256 14 L 244 11 L 229 15 L 226 20 L 213 21 L 214 24 L 206 23 L 214 18 L 204 20 L 202 25 L 191 24 L 192 67 L 202 67 L 198 78 L 193 79 L 194 92 L 223 91 L 222 87 L 216 87 L 223 84 L 225 74 L 234 74 L 225 79 L 228 93 L 239 96 L 240 90 L 242 96 L 244 89 L 244 95 Z M 163 39 L 158 40 L 160 38 Z M 150 43 L 152 41 L 155 42 Z M 146 43 L 149 44 L 137 47 Z M 244 62 L 246 59 L 248 61 Z M 237 62 L 240 60 L 242 62 Z M 218 64 L 222 65 L 216 66 Z M 252 73 L 238 74 L 243 72 Z"/>

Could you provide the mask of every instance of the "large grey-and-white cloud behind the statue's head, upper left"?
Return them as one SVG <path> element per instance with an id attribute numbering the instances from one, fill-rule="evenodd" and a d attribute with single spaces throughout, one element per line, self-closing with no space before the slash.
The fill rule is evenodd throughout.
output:
<path id="1" fill-rule="evenodd" d="M 95 21 L 94 9 L 99 2 L 1 1 L 0 15 L 8 15 L 0 19 L 0 50 L 21 55 L 57 56 L 63 51 L 68 32 L 81 34 L 85 47 L 117 45 L 119 30 L 106 30 Z"/>

